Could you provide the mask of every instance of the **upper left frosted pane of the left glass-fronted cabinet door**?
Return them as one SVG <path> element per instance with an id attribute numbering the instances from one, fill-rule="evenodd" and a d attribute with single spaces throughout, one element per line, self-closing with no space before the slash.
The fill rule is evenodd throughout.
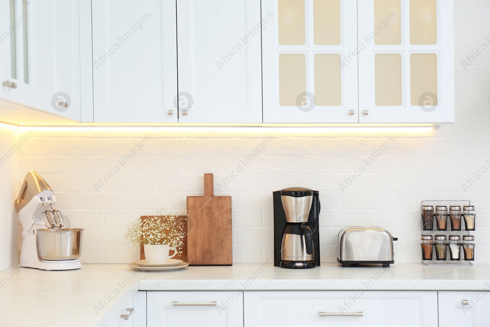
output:
<path id="1" fill-rule="evenodd" d="M 279 44 L 305 44 L 305 1 L 277 0 Z"/>

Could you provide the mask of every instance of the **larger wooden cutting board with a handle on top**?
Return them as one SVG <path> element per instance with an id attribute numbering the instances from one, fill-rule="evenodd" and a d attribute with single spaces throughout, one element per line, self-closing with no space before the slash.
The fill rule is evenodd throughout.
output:
<path id="1" fill-rule="evenodd" d="M 231 197 L 213 194 L 213 174 L 204 174 L 204 196 L 187 197 L 187 258 L 194 266 L 231 266 Z"/>

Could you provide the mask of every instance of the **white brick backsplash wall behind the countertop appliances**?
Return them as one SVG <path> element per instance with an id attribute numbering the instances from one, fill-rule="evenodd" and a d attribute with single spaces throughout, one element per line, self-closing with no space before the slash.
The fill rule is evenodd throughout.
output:
<path id="1" fill-rule="evenodd" d="M 233 262 L 263 262 L 273 256 L 272 191 L 303 186 L 320 192 L 323 262 L 337 262 L 340 229 L 359 225 L 381 226 L 398 237 L 396 262 L 420 262 L 420 202 L 471 200 L 477 208 L 477 262 L 490 263 L 490 171 L 474 175 L 483 165 L 490 169 L 485 162 L 490 160 L 490 50 L 466 69 L 462 64 L 482 43 L 490 46 L 490 1 L 453 2 L 454 124 L 439 123 L 440 128 L 430 131 L 20 128 L 14 133 L 25 133 L 29 140 L 10 159 L 18 172 L 11 174 L 15 178 L 8 184 L 17 192 L 29 170 L 49 182 L 58 199 L 56 207 L 72 226 L 86 229 L 84 263 L 138 259 L 139 249 L 123 246 L 129 222 L 162 207 L 185 209 L 187 196 L 204 194 L 204 173 L 215 174 L 215 195 L 232 197 Z M 395 141 L 386 146 L 393 135 Z M 10 144 L 15 136 L 4 141 Z M 146 144 L 140 148 L 143 140 Z M 377 150 L 383 153 L 368 163 Z M 129 163 L 122 165 L 118 160 L 131 151 L 135 152 Z M 109 178 L 116 166 L 121 172 Z M 361 167 L 366 171 L 359 174 Z M 97 192 L 94 184 L 104 177 Z"/>

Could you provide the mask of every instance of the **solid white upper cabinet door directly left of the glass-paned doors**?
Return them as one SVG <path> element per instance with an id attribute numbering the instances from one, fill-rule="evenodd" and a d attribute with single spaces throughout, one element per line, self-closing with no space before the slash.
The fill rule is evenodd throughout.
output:
<path id="1" fill-rule="evenodd" d="M 179 123 L 262 123 L 260 0 L 177 0 Z"/>

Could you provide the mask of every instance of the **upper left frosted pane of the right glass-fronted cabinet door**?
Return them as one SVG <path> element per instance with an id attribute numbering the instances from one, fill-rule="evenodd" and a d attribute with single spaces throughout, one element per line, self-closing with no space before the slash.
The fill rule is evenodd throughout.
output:
<path id="1" fill-rule="evenodd" d="M 401 44 L 400 0 L 374 0 L 374 44 Z"/>

